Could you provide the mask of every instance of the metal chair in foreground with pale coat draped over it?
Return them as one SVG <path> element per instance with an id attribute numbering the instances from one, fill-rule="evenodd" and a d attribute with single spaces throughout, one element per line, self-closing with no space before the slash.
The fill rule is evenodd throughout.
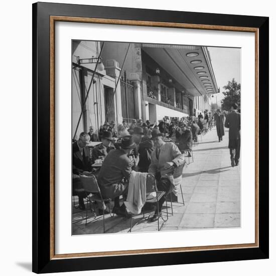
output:
<path id="1" fill-rule="evenodd" d="M 152 203 L 152 204 L 156 204 L 156 208 L 157 210 L 159 210 L 159 200 L 164 196 L 166 195 L 166 192 L 164 191 L 158 191 L 157 189 L 157 185 L 156 185 L 156 179 L 155 179 L 155 176 L 153 176 L 152 174 L 148 174 L 147 175 L 147 179 L 146 179 L 146 191 L 147 191 L 147 198 L 146 198 L 146 203 Z M 154 197 L 149 197 L 149 193 L 151 192 L 155 192 L 156 195 Z M 143 218 L 145 219 L 145 210 L 144 210 L 144 207 L 142 208 L 143 209 Z M 166 209 L 167 209 L 167 219 L 165 220 L 162 216 L 161 218 L 164 220 L 164 221 L 167 221 L 169 216 L 168 216 L 168 204 L 167 204 L 167 198 L 166 198 Z M 151 215 L 148 216 L 147 219 L 150 218 Z M 160 226 L 159 226 L 159 218 L 160 218 L 160 215 L 159 215 L 159 212 L 157 212 L 157 222 L 158 222 L 158 231 L 160 231 Z M 130 232 L 131 232 L 131 229 L 132 229 L 132 216 L 130 218 Z"/>

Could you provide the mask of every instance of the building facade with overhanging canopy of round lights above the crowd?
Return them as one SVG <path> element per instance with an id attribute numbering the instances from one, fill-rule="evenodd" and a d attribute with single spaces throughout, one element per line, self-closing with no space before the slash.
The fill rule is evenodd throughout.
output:
<path id="1" fill-rule="evenodd" d="M 77 136 L 105 121 L 197 116 L 218 92 L 207 47 L 72 43 L 72 136 L 78 121 Z"/>

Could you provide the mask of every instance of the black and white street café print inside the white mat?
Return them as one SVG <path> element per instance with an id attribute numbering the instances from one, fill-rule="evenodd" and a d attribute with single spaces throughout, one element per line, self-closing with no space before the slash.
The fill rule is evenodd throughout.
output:
<path id="1" fill-rule="evenodd" d="M 72 235 L 241 226 L 240 55 L 72 40 Z"/>

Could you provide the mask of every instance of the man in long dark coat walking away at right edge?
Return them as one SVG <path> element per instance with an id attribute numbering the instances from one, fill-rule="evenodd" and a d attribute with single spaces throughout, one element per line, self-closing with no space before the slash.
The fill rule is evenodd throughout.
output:
<path id="1" fill-rule="evenodd" d="M 229 144 L 231 166 L 238 166 L 240 154 L 240 113 L 237 104 L 233 103 L 231 112 L 227 114 L 224 126 L 229 128 Z"/>

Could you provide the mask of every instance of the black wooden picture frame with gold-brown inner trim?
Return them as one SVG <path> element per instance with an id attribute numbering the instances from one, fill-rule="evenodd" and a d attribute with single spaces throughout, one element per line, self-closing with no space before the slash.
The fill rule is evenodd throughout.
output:
<path id="1" fill-rule="evenodd" d="M 255 242 L 55 254 L 55 23 L 255 34 Z M 268 258 L 268 18 L 69 4 L 33 4 L 33 271 L 110 269 Z"/>

